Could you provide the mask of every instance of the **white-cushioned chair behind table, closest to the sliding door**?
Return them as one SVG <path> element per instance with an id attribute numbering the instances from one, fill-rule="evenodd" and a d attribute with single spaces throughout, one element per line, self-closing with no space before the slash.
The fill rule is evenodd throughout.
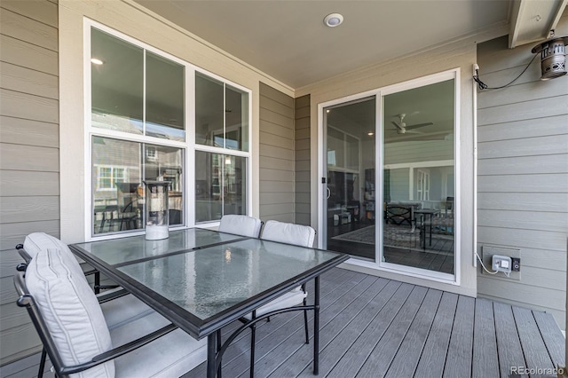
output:
<path id="1" fill-rule="evenodd" d="M 260 239 L 279 241 L 281 243 L 295 244 L 302 247 L 312 248 L 313 240 L 315 238 L 315 230 L 308 225 L 291 224 L 269 220 L 264 224 L 264 229 Z M 256 309 L 245 318 L 248 320 L 256 319 L 270 311 L 286 309 L 298 304 L 306 305 L 306 298 L 308 293 L 305 289 L 305 284 L 294 288 L 292 291 L 281 295 L 273 301 L 264 304 L 262 307 Z M 270 318 L 268 318 L 270 321 Z M 308 311 L 304 310 L 304 331 L 305 343 L 310 343 L 308 335 Z M 254 376 L 255 372 L 255 344 L 256 344 L 256 325 L 250 326 L 250 376 Z"/>

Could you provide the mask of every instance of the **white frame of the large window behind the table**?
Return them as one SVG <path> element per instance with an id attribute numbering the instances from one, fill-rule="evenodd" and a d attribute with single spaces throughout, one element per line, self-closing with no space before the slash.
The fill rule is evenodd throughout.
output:
<path id="1" fill-rule="evenodd" d="M 97 127 L 93 127 L 91 124 L 91 28 L 98 28 L 109 35 L 113 35 L 116 38 L 120 38 L 123 41 L 132 43 L 146 51 L 150 51 L 156 55 L 159 55 L 165 59 L 170 59 L 177 64 L 185 67 L 185 141 L 170 140 L 164 138 L 155 138 L 146 135 L 138 135 L 129 132 L 119 131 L 119 130 L 106 130 Z M 105 25 L 100 24 L 97 21 L 90 19 L 83 19 L 83 88 L 84 88 L 84 128 L 85 128 L 85 138 L 84 138 L 84 152 L 85 152 L 85 165 L 84 165 L 84 187 L 85 187 L 85 197 L 84 197 L 84 220 L 85 220 L 85 230 L 84 236 L 85 240 L 105 240 L 112 238 L 120 238 L 125 236 L 132 236 L 136 234 L 143 234 L 145 231 L 142 229 L 139 232 L 125 232 L 124 234 L 113 233 L 113 234 L 97 234 L 93 233 L 94 230 L 94 219 L 92 216 L 92 169 L 94 168 L 92 163 L 92 138 L 93 137 L 103 137 L 103 138 L 117 138 L 124 141 L 138 142 L 153 144 L 158 146 L 171 146 L 181 148 L 184 154 L 183 169 L 185 173 L 184 179 L 184 219 L 182 225 L 172 226 L 170 230 L 183 229 L 188 227 L 193 227 L 195 225 L 205 225 L 205 226 L 215 226 L 218 225 L 218 221 L 211 221 L 206 224 L 195 224 L 195 152 L 205 151 L 215 154 L 225 154 L 232 156 L 241 156 L 247 158 L 247 177 L 246 177 L 246 201 L 247 208 L 246 214 L 250 215 L 252 213 L 252 91 L 248 88 L 243 87 L 238 83 L 233 83 L 226 80 L 225 78 L 210 73 L 200 67 L 196 67 L 193 64 L 178 59 L 177 57 L 170 55 L 168 52 L 161 51 L 154 48 L 153 46 L 141 42 L 129 35 L 124 35 L 113 28 L 108 28 Z M 195 143 L 195 73 L 200 72 L 202 75 L 208 75 L 211 78 L 218 80 L 225 85 L 230 85 L 239 91 L 246 92 L 248 94 L 248 151 L 238 151 L 225 147 L 214 147 L 214 146 L 203 146 Z M 146 75 L 144 79 L 146 81 Z M 146 84 L 145 84 L 146 87 Z M 145 94 L 146 95 L 146 94 Z M 144 105 L 146 106 L 146 104 Z M 145 114 L 146 118 L 146 114 Z M 224 125 L 225 130 L 225 125 Z M 225 133 L 224 133 L 225 136 Z"/>

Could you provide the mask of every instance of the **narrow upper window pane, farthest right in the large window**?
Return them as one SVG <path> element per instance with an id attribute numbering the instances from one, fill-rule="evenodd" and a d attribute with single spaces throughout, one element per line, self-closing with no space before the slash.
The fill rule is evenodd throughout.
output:
<path id="1" fill-rule="evenodd" d="M 225 147 L 248 151 L 248 93 L 226 86 Z"/>

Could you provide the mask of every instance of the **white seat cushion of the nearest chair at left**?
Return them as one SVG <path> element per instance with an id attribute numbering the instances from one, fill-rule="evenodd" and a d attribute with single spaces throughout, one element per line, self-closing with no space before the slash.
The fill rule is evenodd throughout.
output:
<path id="1" fill-rule="evenodd" d="M 111 330 L 113 345 L 128 343 L 170 322 L 157 312 Z M 178 377 L 207 360 L 207 338 L 197 341 L 181 329 L 114 360 L 116 376 Z"/>

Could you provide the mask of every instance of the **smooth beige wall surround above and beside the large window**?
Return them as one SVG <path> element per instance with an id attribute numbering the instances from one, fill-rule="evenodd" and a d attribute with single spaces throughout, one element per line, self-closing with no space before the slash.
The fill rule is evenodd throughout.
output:
<path id="1" fill-rule="evenodd" d="M 215 46 L 124 1 L 59 1 L 61 239 L 70 243 L 85 238 L 85 91 L 83 84 L 83 20 L 95 20 L 130 35 L 179 59 L 252 90 L 252 215 L 260 214 L 259 193 L 259 83 L 293 96 L 282 83 Z"/>

